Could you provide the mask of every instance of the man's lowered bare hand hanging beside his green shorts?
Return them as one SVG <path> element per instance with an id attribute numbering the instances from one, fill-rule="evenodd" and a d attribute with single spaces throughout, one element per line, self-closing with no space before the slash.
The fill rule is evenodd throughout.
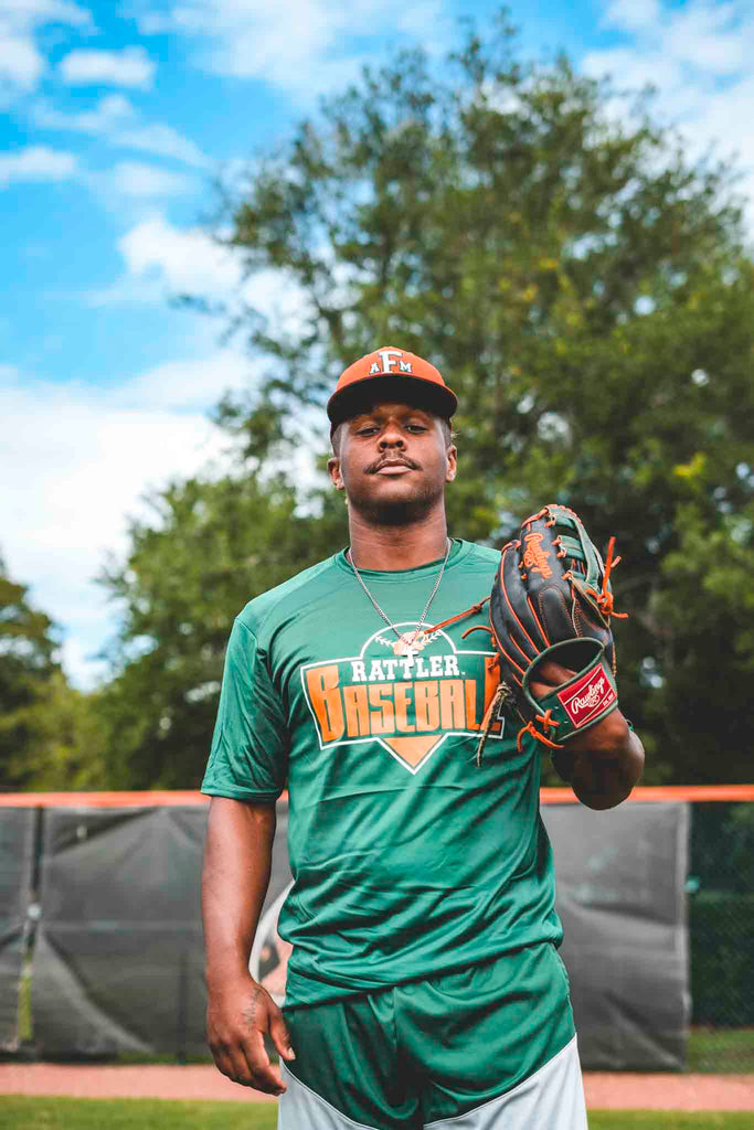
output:
<path id="1" fill-rule="evenodd" d="M 296 1058 L 283 1012 L 252 976 L 210 986 L 207 1038 L 218 1069 L 233 1083 L 281 1095 L 286 1086 L 265 1049 L 266 1033 L 281 1059 Z"/>

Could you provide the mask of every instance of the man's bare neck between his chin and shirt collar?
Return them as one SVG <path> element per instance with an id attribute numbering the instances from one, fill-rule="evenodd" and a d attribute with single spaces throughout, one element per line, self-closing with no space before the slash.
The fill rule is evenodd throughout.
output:
<path id="1" fill-rule="evenodd" d="M 348 514 L 350 555 L 358 568 L 417 568 L 445 556 L 444 508 L 407 525 L 370 525 L 353 507 Z"/>

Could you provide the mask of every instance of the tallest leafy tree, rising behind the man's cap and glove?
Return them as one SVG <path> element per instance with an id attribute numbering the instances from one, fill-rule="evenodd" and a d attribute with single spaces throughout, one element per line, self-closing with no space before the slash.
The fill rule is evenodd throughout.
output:
<path id="1" fill-rule="evenodd" d="M 269 376 L 220 418 L 263 462 L 361 354 L 428 356 L 461 406 L 452 532 L 501 545 L 558 501 L 617 534 L 647 780 L 748 780 L 754 266 L 731 171 L 612 97 L 521 63 L 503 15 L 441 72 L 404 54 L 302 122 L 223 238 L 304 313 L 248 316 Z"/>

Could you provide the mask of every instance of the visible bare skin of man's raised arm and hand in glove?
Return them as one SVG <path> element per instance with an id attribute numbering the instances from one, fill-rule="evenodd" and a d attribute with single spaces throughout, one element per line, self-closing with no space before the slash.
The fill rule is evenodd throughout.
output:
<path id="1" fill-rule="evenodd" d="M 531 689 L 544 697 L 575 671 L 552 660 L 541 664 Z M 615 808 L 630 796 L 644 767 L 644 748 L 619 710 L 553 751 L 553 764 L 588 808 Z"/>

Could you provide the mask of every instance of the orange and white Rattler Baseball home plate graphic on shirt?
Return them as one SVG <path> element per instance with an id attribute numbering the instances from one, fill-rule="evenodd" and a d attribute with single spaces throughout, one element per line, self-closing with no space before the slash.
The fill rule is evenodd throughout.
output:
<path id="1" fill-rule="evenodd" d="M 478 733 L 497 688 L 492 652 L 457 647 L 443 631 L 397 624 L 369 637 L 357 655 L 318 660 L 301 668 L 306 703 L 320 747 L 378 741 L 417 773 L 453 734 Z M 491 738 L 500 739 L 496 719 Z"/>

